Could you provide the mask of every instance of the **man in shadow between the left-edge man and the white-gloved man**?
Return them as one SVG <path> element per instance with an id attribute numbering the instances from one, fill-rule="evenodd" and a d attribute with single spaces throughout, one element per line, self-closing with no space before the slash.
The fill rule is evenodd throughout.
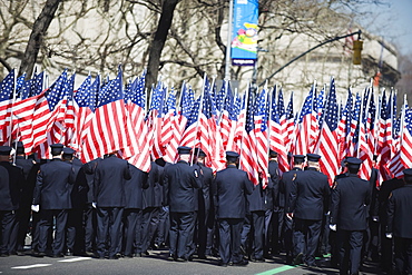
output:
<path id="1" fill-rule="evenodd" d="M 22 168 L 24 174 L 24 181 L 21 186 L 19 210 L 17 212 L 17 219 L 19 223 L 19 230 L 17 235 L 17 254 L 24 255 L 24 240 L 29 229 L 29 222 L 31 217 L 30 206 L 33 198 L 33 189 L 39 165 L 33 159 L 26 158 L 23 143 L 17 141 L 12 147 L 16 148 L 16 166 Z"/>

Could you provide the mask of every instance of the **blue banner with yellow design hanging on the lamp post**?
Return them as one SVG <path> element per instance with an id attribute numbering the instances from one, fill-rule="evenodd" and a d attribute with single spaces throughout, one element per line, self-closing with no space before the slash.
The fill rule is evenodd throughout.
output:
<path id="1" fill-rule="evenodd" d="M 254 66 L 257 59 L 258 0 L 235 0 L 232 65 Z"/>

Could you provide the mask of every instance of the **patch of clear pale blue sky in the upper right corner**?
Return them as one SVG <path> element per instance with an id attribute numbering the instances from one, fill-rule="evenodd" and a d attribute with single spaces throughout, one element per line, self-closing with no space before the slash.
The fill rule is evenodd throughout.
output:
<path id="1" fill-rule="evenodd" d="M 361 19 L 361 24 L 395 45 L 402 55 L 412 55 L 412 0 L 381 1 L 388 4 L 365 7 L 372 14 Z"/>

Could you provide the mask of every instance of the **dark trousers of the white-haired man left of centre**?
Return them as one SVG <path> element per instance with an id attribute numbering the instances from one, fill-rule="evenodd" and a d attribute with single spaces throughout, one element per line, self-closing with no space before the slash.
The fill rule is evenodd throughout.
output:
<path id="1" fill-rule="evenodd" d="M 190 225 L 194 220 L 194 212 L 170 212 L 169 252 L 179 258 L 187 257 L 187 245 L 190 237 Z"/>

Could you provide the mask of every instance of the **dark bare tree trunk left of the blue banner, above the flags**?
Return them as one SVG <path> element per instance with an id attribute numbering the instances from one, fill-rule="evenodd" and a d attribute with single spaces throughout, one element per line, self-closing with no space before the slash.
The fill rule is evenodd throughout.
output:
<path id="1" fill-rule="evenodd" d="M 149 46 L 149 61 L 147 65 L 146 75 L 147 102 L 149 102 L 150 98 L 150 87 L 157 81 L 161 50 L 165 46 L 167 33 L 169 32 L 171 26 L 173 13 L 178 2 L 179 0 L 165 0 L 163 2 L 159 23 L 157 24 L 155 38 Z"/>

